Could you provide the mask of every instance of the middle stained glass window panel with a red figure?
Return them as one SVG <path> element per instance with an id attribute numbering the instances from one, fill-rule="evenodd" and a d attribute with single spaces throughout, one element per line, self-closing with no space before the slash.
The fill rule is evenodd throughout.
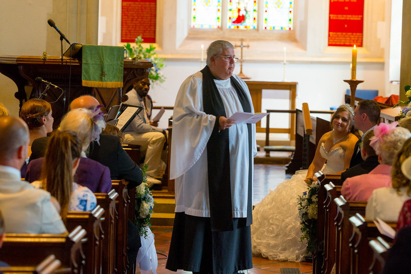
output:
<path id="1" fill-rule="evenodd" d="M 257 0 L 228 0 L 228 28 L 256 29 Z"/>

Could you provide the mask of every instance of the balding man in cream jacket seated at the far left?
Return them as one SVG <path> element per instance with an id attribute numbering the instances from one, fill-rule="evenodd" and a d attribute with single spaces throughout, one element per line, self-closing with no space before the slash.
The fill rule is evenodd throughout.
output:
<path id="1" fill-rule="evenodd" d="M 27 125 L 17 117 L 0 116 L 0 208 L 7 233 L 65 233 L 50 193 L 21 180 L 28 152 Z"/>

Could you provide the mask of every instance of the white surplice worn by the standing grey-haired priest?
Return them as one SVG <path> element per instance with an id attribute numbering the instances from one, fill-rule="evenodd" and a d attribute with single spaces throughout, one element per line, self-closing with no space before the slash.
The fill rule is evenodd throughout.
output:
<path id="1" fill-rule="evenodd" d="M 243 88 L 254 112 L 246 83 L 233 75 Z M 227 117 L 243 111 L 230 79 L 214 80 L 221 95 Z M 198 71 L 183 82 L 177 94 L 173 113 L 170 179 L 175 180 L 176 212 L 210 217 L 207 175 L 207 142 L 216 116 L 203 111 L 203 74 Z M 232 216 L 247 217 L 248 174 L 253 172 L 257 155 L 255 124 L 251 125 L 252 154 L 249 155 L 247 124 L 234 124 L 229 130 L 230 180 Z M 251 166 L 249 166 L 251 157 Z M 251 173 L 252 174 L 252 173 Z M 252 195 L 251 195 L 252 197 Z"/>

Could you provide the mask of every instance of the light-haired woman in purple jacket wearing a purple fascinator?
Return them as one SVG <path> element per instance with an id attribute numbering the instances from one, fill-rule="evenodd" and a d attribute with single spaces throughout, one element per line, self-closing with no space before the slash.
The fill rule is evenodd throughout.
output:
<path id="1" fill-rule="evenodd" d="M 81 141 L 81 158 L 74 182 L 87 186 L 92 192 L 108 193 L 112 187 L 110 170 L 101 163 L 86 158 L 85 151 L 91 141 L 99 140 L 102 128 L 105 127 L 103 116 L 99 110 L 75 109 L 66 114 L 58 130 L 70 130 L 77 134 Z M 31 160 L 28 164 L 26 181 L 34 182 L 40 179 L 44 158 Z"/>

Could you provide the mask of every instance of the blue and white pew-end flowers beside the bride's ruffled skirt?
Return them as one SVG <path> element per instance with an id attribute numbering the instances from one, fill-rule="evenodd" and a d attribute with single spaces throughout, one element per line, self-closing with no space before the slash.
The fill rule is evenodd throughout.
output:
<path id="1" fill-rule="evenodd" d="M 306 253 L 314 253 L 316 249 L 316 235 L 317 235 L 317 209 L 318 197 L 317 192 L 320 183 L 317 180 L 310 180 L 307 182 L 307 191 L 298 196 L 298 212 L 300 217 L 300 229 L 302 236 L 300 241 L 307 240 Z"/>

